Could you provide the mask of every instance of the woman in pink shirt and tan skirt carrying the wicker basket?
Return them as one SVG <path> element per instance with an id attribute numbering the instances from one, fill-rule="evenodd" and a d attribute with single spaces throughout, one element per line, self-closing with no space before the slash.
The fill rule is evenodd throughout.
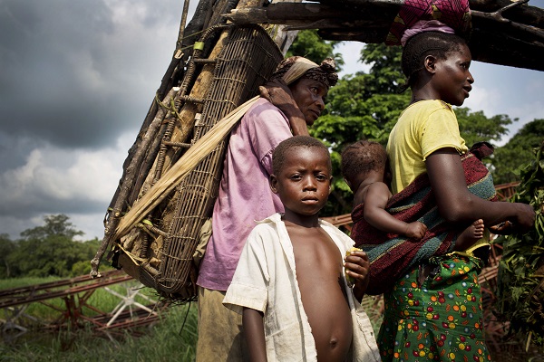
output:
<path id="1" fill-rule="evenodd" d="M 304 57 L 289 57 L 265 85 L 268 98 L 257 100 L 230 132 L 213 230 L 199 265 L 197 362 L 247 360 L 242 318 L 222 301 L 255 220 L 283 212 L 268 182 L 274 148 L 293 134 L 307 135 L 306 126 L 325 110 L 325 96 L 337 79 L 332 59 L 317 65 Z"/>

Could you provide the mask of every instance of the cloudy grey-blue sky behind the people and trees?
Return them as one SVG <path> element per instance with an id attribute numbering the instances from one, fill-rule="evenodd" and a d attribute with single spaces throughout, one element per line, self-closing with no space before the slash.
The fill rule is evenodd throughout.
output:
<path id="1" fill-rule="evenodd" d="M 102 239 L 182 8 L 182 0 L 0 0 L 0 233 L 17 239 L 44 215 L 67 214 L 84 240 Z M 361 46 L 338 49 L 344 74 L 362 69 Z M 544 72 L 481 62 L 471 70 L 464 105 L 520 119 L 510 136 L 544 118 Z"/>

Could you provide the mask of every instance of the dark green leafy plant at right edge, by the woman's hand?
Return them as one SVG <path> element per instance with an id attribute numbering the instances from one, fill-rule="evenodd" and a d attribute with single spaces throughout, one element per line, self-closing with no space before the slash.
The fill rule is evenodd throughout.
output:
<path id="1" fill-rule="evenodd" d="M 521 170 L 521 184 L 513 202 L 533 206 L 536 223 L 529 233 L 501 236 L 499 315 L 510 321 L 510 332 L 544 345 L 544 142 L 536 158 Z"/>

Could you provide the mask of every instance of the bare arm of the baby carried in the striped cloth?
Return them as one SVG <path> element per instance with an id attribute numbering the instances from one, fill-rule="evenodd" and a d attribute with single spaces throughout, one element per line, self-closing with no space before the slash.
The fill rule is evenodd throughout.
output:
<path id="1" fill-rule="evenodd" d="M 364 220 L 385 233 L 398 233 L 409 238 L 421 239 L 427 232 L 427 226 L 420 222 L 404 223 L 385 211 L 385 205 L 391 192 L 383 182 L 368 186 L 364 199 Z"/>

